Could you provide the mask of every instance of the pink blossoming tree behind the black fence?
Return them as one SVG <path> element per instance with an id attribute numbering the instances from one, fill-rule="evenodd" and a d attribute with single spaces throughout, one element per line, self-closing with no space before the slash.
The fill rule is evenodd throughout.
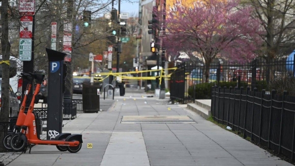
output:
<path id="1" fill-rule="evenodd" d="M 162 36 L 168 54 L 196 52 L 209 67 L 216 56 L 228 61 L 249 61 L 262 43 L 261 22 L 251 17 L 250 7 L 237 8 L 238 1 L 205 0 L 167 11 L 166 34 Z M 204 79 L 203 79 L 204 80 Z"/>

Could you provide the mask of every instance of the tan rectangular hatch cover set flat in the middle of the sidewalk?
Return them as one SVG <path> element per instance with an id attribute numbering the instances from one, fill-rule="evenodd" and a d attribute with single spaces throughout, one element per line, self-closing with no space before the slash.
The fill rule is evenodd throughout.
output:
<path id="1" fill-rule="evenodd" d="M 120 123 L 197 123 L 188 116 L 123 116 Z"/>

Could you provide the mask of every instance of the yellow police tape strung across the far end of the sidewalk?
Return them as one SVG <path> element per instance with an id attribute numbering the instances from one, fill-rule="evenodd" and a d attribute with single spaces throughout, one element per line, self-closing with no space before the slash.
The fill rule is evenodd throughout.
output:
<path id="1" fill-rule="evenodd" d="M 165 75 L 165 71 L 164 70 L 176 70 L 177 67 L 172 67 L 172 68 L 167 68 L 167 69 L 154 69 L 154 70 L 142 70 L 142 71 L 128 71 L 128 72 L 115 72 L 113 73 L 112 71 L 110 72 L 100 72 L 100 73 L 94 73 L 92 74 L 94 77 L 94 82 L 102 82 L 104 79 L 108 78 L 110 75 L 113 75 L 115 77 L 121 77 L 121 79 L 123 80 L 155 80 L 156 78 L 160 78 L 160 80 L 162 80 L 162 78 L 164 78 L 165 80 L 169 80 L 171 74 L 173 73 L 169 73 L 167 75 Z M 140 77 L 132 77 L 132 76 L 127 76 L 127 74 L 138 74 L 138 73 L 144 73 L 144 72 L 156 72 L 156 71 L 160 71 L 159 76 L 140 76 Z M 73 76 L 73 78 L 88 78 L 90 79 L 90 77 L 85 77 L 85 76 Z M 160 81 L 161 82 L 161 81 Z"/>

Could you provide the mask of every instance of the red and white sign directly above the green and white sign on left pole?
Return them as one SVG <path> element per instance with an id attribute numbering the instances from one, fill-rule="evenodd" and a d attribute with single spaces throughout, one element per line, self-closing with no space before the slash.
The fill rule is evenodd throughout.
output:
<path id="1" fill-rule="evenodd" d="M 20 38 L 32 38 L 33 16 L 21 17 Z"/>

